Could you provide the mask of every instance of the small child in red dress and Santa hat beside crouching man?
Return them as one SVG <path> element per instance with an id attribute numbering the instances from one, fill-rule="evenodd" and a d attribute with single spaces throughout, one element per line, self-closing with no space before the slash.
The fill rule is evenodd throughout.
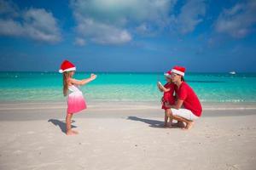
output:
<path id="1" fill-rule="evenodd" d="M 164 127 L 172 127 L 172 119 L 170 118 L 168 123 L 168 116 L 167 113 L 170 111 L 170 108 L 167 108 L 166 105 L 175 105 L 175 97 L 173 96 L 174 93 L 174 83 L 172 83 L 171 79 L 171 71 L 167 71 L 165 73 L 166 76 L 166 84 L 163 86 L 161 82 L 158 82 L 158 88 L 160 89 L 160 92 L 164 92 L 164 95 L 161 99 L 162 103 L 162 109 L 165 110 L 165 124 Z"/>

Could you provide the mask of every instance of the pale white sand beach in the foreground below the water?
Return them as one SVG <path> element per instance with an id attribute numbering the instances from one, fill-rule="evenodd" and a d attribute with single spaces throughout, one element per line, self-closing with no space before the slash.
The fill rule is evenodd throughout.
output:
<path id="1" fill-rule="evenodd" d="M 65 134 L 65 103 L 0 105 L 1 170 L 256 166 L 254 104 L 205 104 L 195 127 L 183 131 L 162 128 L 163 111 L 154 103 L 93 103 L 73 116 L 76 136 Z"/>

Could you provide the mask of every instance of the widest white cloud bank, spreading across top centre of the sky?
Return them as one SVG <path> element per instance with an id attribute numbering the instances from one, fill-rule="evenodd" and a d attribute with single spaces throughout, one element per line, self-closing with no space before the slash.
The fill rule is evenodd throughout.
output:
<path id="1" fill-rule="evenodd" d="M 121 44 L 133 34 L 155 36 L 174 29 L 195 30 L 206 14 L 205 0 L 187 0 L 180 14 L 172 11 L 177 0 L 71 0 L 78 37 L 86 42 Z"/>

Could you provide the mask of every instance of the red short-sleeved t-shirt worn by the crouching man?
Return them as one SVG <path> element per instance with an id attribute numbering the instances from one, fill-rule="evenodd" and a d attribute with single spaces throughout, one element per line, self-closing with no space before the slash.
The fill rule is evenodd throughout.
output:
<path id="1" fill-rule="evenodd" d="M 190 88 L 186 82 L 182 82 L 178 89 L 176 85 L 175 93 L 177 94 L 178 99 L 183 100 L 183 107 L 185 109 L 192 111 L 195 116 L 201 116 L 201 103 L 194 90 Z"/>

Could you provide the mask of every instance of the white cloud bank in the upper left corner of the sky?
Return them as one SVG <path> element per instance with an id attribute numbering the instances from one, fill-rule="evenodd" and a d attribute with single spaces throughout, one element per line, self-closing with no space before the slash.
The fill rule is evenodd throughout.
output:
<path id="1" fill-rule="evenodd" d="M 44 8 L 20 11 L 12 8 L 13 3 L 4 1 L 0 1 L 0 6 L 0 35 L 28 37 L 42 42 L 61 41 L 61 32 L 55 17 Z"/>

